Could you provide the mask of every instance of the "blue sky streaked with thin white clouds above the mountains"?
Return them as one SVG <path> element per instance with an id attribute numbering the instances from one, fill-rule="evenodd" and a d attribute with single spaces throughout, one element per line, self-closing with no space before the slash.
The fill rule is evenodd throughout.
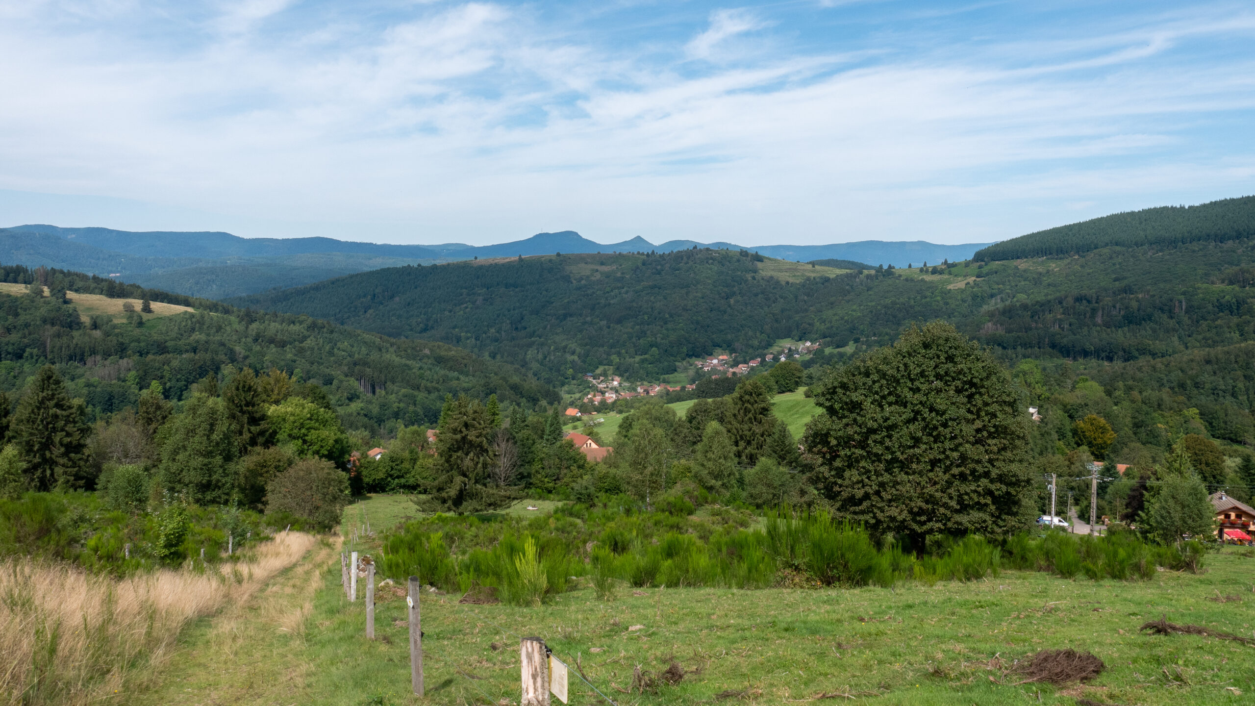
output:
<path id="1" fill-rule="evenodd" d="M 974 242 L 1255 193 L 1249 3 L 0 0 L 0 225 Z"/>

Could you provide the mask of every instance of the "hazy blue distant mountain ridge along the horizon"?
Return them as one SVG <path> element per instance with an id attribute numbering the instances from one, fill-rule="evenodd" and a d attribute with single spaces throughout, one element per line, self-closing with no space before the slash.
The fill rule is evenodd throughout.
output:
<path id="1" fill-rule="evenodd" d="M 865 240 L 833 245 L 761 245 L 670 240 L 655 245 L 636 236 L 600 244 L 572 230 L 538 232 L 494 245 L 392 245 L 331 237 L 240 237 L 221 231 L 125 231 L 28 224 L 0 230 L 0 263 L 118 276 L 148 288 L 191 296 L 226 299 L 275 288 L 400 265 L 433 265 L 472 259 L 594 253 L 674 253 L 693 247 L 752 250 L 783 260 L 850 260 L 906 266 L 964 260 L 986 244 L 936 245 L 924 241 Z"/>

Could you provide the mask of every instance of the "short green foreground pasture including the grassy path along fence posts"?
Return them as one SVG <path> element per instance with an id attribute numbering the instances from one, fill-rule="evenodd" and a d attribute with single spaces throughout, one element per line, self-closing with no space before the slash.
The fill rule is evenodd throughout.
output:
<path id="1" fill-rule="evenodd" d="M 1150 582 L 1067 580 L 1004 572 L 973 583 L 862 589 L 590 588 L 538 608 L 458 604 L 424 593 L 427 698 L 408 693 L 404 597 L 379 592 L 378 639 L 364 606 L 340 590 L 335 555 L 294 570 L 225 626 L 188 633 L 190 660 L 161 680 L 151 703 L 517 703 L 518 636 L 541 636 L 620 705 L 841 701 L 885 705 L 1249 703 L 1255 648 L 1138 632 L 1167 616 L 1250 636 L 1255 559 L 1209 555 L 1201 575 Z M 1216 595 L 1237 600 L 1217 603 Z M 1092 651 L 1107 668 L 1087 686 L 1017 683 L 1015 662 L 1043 648 Z M 688 673 L 656 692 L 622 693 L 638 665 Z M 571 702 L 601 702 L 574 676 Z M 1242 692 L 1242 693 L 1239 693 Z M 738 702 L 732 698 L 728 703 Z M 556 703 L 556 702 L 555 702 Z"/>

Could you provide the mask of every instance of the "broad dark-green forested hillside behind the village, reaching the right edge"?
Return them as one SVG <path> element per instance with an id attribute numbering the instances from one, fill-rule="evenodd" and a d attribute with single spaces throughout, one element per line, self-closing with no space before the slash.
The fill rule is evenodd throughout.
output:
<path id="1" fill-rule="evenodd" d="M 562 255 L 379 270 L 236 303 L 443 340 L 555 383 L 600 366 L 665 374 L 715 348 L 753 356 L 778 339 L 822 339 L 812 361 L 833 362 L 932 319 L 1009 363 L 1118 362 L 1250 340 L 1251 245 L 1106 246 L 862 274 L 717 250 Z"/>

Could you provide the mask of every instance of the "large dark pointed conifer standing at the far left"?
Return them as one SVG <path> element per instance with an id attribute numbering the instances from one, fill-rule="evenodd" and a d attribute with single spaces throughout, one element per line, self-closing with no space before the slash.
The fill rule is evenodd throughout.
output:
<path id="1" fill-rule="evenodd" d="M 10 428 L 33 490 L 82 482 L 90 433 L 84 416 L 83 402 L 65 393 L 56 368 L 44 366 L 35 373 Z"/>

